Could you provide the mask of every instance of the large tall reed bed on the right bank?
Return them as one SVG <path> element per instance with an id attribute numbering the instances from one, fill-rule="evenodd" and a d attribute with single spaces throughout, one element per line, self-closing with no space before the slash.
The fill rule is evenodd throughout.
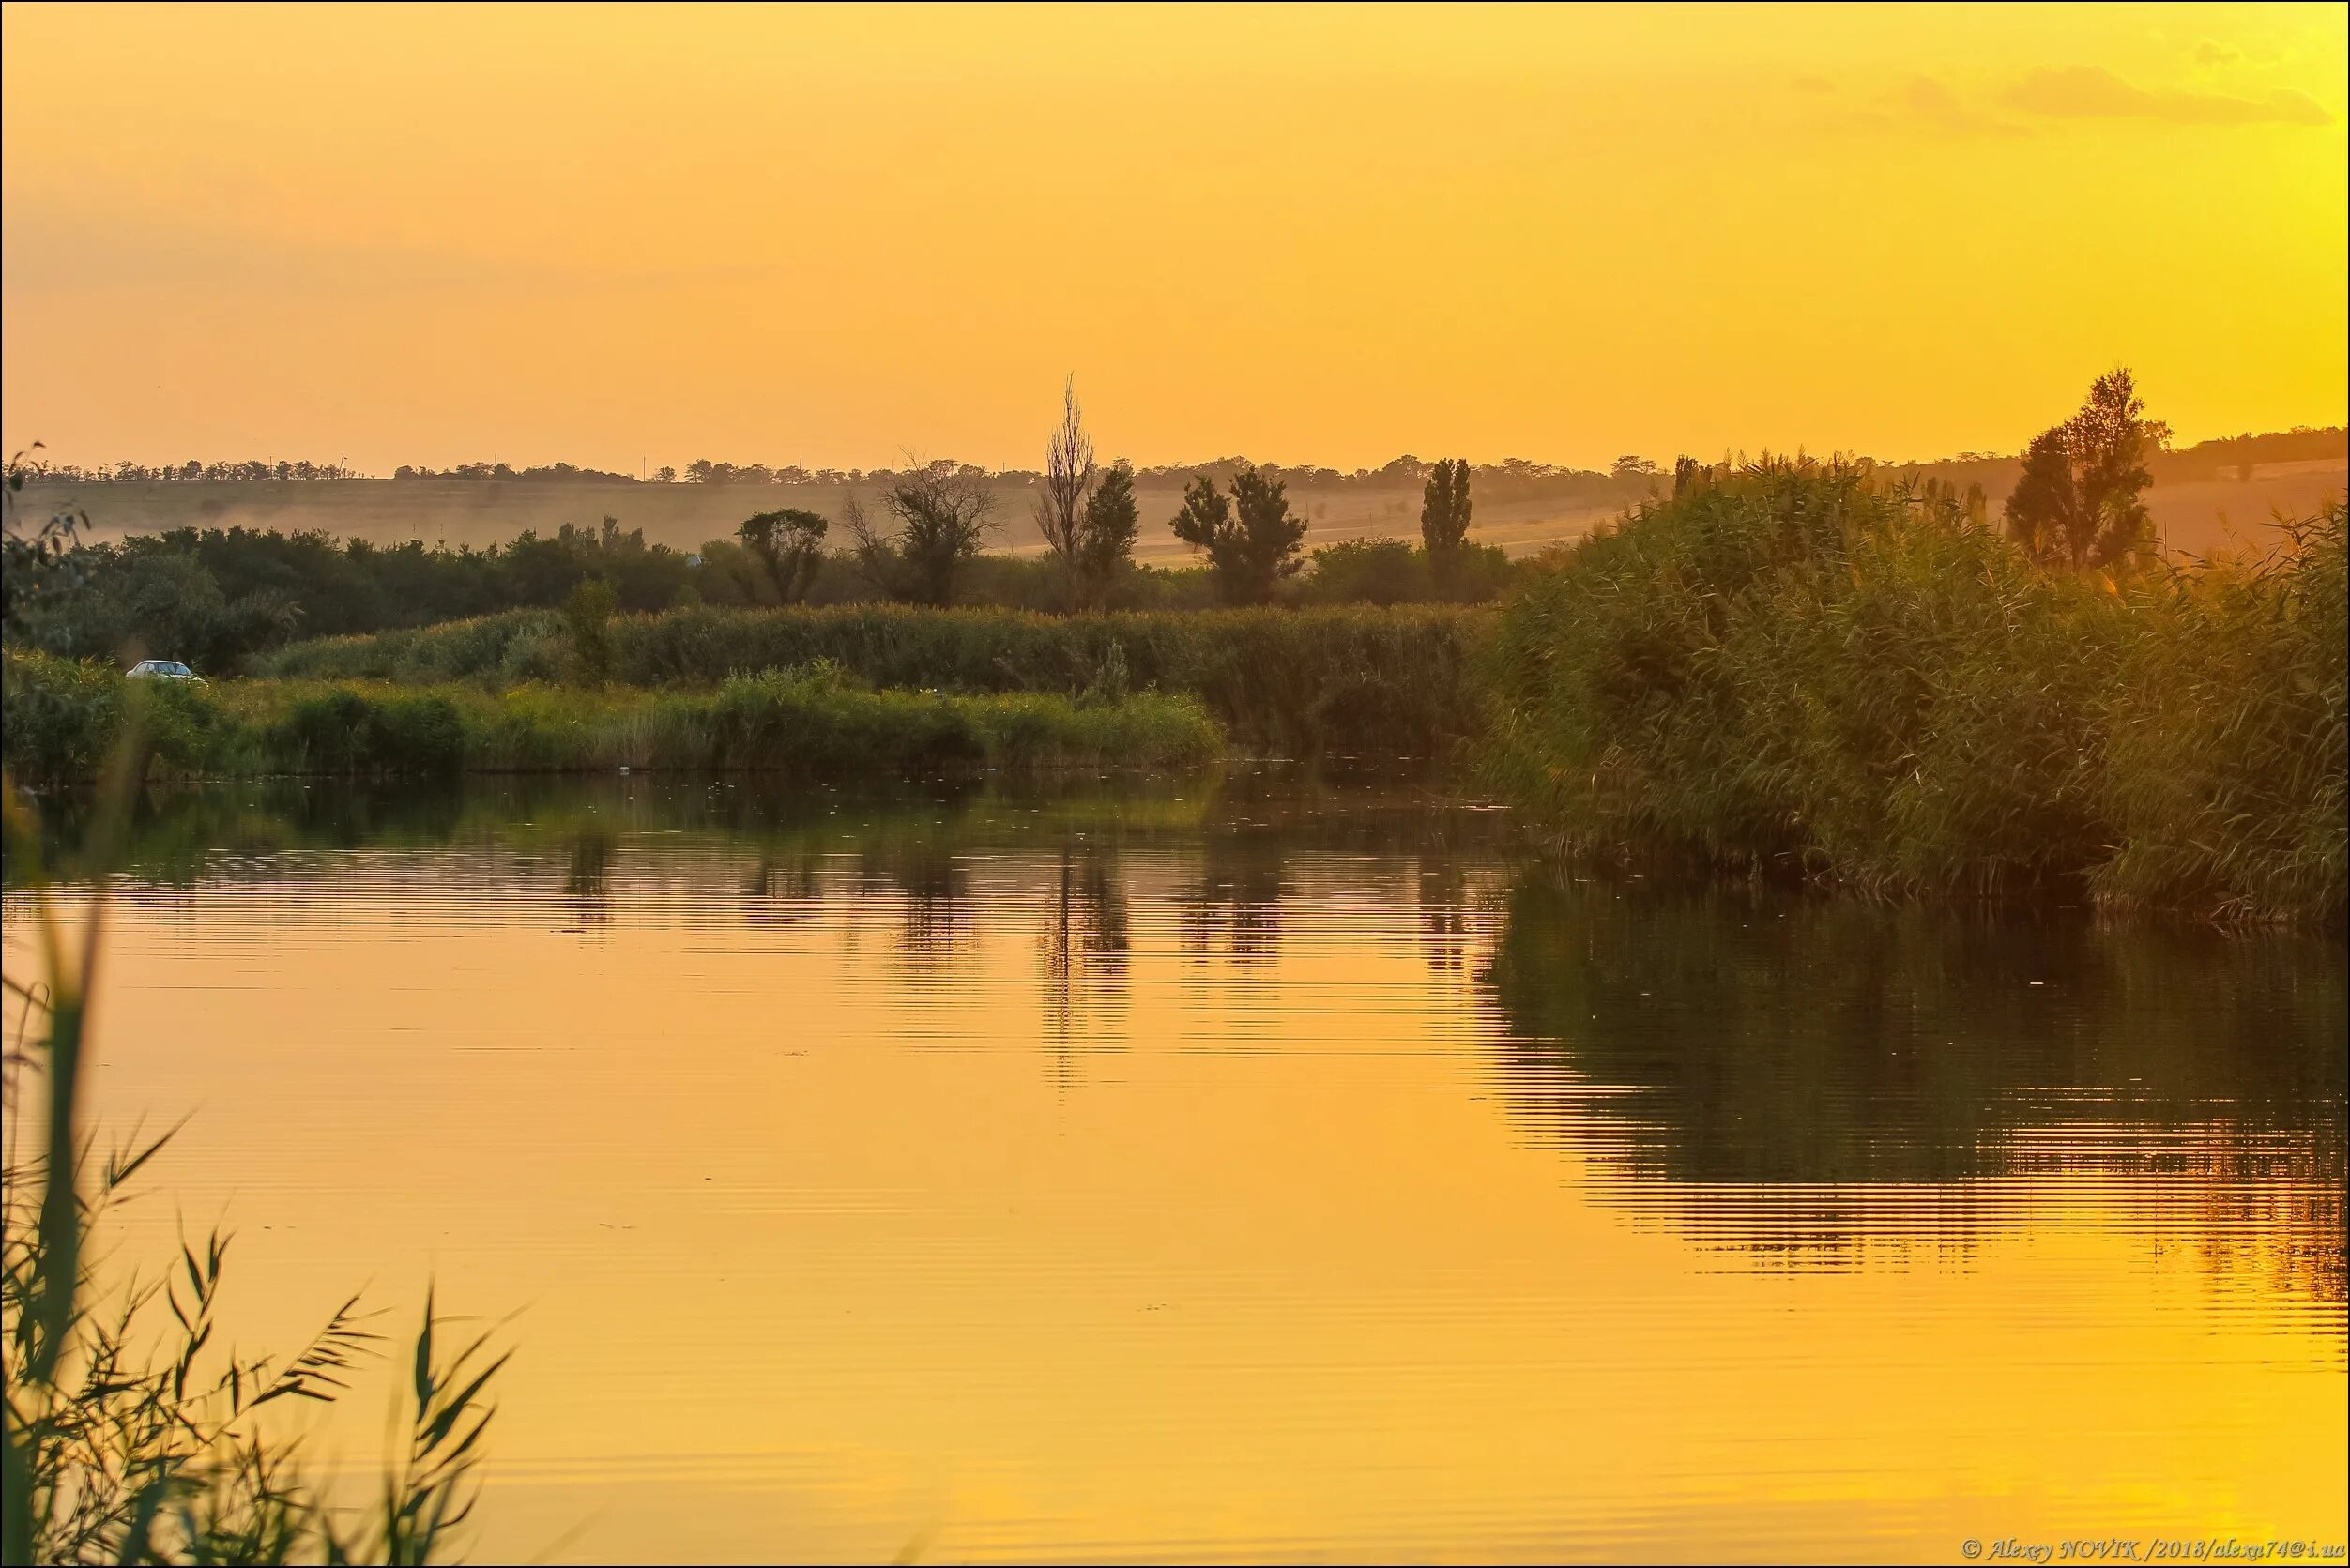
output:
<path id="1" fill-rule="evenodd" d="M 1864 468 L 1767 463 L 1528 585 L 1480 766 L 1567 851 L 2341 919 L 2341 505 L 2268 562 L 2117 585 Z"/>

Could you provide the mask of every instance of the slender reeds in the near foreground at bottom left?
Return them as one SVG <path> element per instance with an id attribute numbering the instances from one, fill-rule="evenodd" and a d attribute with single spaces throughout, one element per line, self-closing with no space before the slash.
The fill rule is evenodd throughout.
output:
<path id="1" fill-rule="evenodd" d="M 134 710 L 103 771 L 89 863 L 110 865 L 146 766 Z M 40 832 L 5 792 L 16 884 L 38 933 L 40 976 L 7 976 L 7 1197 L 0 1201 L 0 1556 L 7 1563 L 430 1563 L 461 1542 L 477 1497 L 489 1387 L 508 1354 L 491 1333 L 451 1345 L 425 1291 L 414 1342 L 414 1408 L 367 1507 L 329 1497 L 298 1429 L 263 1422 L 277 1401 L 334 1401 L 376 1354 L 352 1295 L 284 1359 L 214 1349 L 230 1237 L 219 1227 L 157 1274 L 101 1279 L 92 1239 L 110 1204 L 172 1140 L 136 1135 L 92 1164 L 80 1081 L 103 957 L 103 884 L 80 933 L 52 905 Z M 26 1154 L 24 1119 L 40 1150 Z M 207 1354 L 212 1349 L 212 1354 Z"/>

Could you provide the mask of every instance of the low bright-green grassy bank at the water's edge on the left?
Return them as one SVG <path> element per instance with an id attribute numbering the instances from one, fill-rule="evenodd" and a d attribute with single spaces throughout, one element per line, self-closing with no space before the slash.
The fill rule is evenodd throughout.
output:
<path id="1" fill-rule="evenodd" d="M 522 684 L 150 682 L 7 654 L 9 773 L 96 776 L 134 698 L 153 776 L 432 776 L 630 769 L 935 773 L 956 769 L 1168 769 L 1217 757 L 1198 703 L 1140 693 L 874 691 L 834 668 L 771 670 L 691 691 Z"/>

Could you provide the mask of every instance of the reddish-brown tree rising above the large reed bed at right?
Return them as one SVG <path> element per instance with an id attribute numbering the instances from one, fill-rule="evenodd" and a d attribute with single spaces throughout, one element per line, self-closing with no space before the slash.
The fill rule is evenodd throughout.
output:
<path id="1" fill-rule="evenodd" d="M 2143 491 L 2169 428 L 2146 418 L 2127 369 L 2099 376 L 2080 411 L 2033 437 L 2007 496 L 2007 536 L 2044 567 L 2120 569 L 2155 552 Z"/>

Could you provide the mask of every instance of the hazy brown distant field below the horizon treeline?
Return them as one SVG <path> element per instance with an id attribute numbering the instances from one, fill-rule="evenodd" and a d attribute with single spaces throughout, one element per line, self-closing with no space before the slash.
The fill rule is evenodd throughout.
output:
<path id="1" fill-rule="evenodd" d="M 2244 543 L 2272 510 L 2303 517 L 2329 496 L 2341 496 L 2350 465 L 2341 461 L 2268 463 L 2249 482 L 2207 480 L 2157 484 L 2148 491 L 2155 522 L 2174 550 L 2209 552 Z M 1144 487 L 1142 538 L 1135 555 L 1152 562 L 1182 559 L 1187 550 L 1166 529 L 1182 505 L 1175 487 Z M 1036 550 L 1034 491 L 1003 487 L 996 515 L 1001 550 Z M 2002 501 L 1993 489 L 1993 505 Z M 489 545 L 522 529 L 552 531 L 566 522 L 595 524 L 618 517 L 644 529 L 656 543 L 693 548 L 733 534 L 750 512 L 804 505 L 827 517 L 841 515 L 839 487 L 750 484 L 498 484 L 479 480 L 294 480 L 270 484 L 33 484 L 24 494 L 26 515 L 47 515 L 56 503 L 80 501 L 89 512 L 89 538 L 153 534 L 174 527 L 324 529 L 343 538 L 397 543 L 423 538 L 451 545 Z M 1307 545 L 1340 538 L 1417 538 L 1417 489 L 1292 489 L 1290 505 L 1309 522 Z M 1476 538 L 1511 555 L 1579 538 L 1593 522 L 1614 515 L 1610 505 L 1560 501 L 1490 503 L 1476 508 Z"/>

